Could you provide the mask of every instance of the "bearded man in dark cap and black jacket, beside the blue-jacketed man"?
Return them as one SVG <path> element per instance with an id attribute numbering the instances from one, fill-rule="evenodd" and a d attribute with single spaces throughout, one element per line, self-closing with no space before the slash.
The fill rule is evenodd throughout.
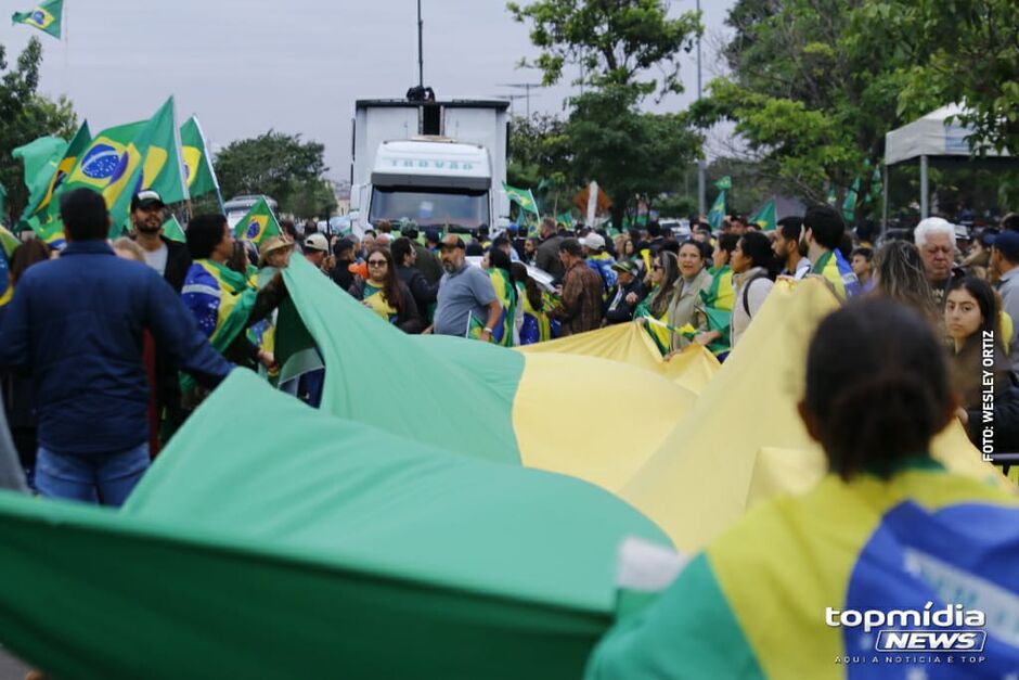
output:
<path id="1" fill-rule="evenodd" d="M 142 246 L 145 262 L 159 272 L 173 290 L 180 294 L 184 277 L 191 268 L 188 245 L 170 241 L 163 233 L 166 222 L 166 205 L 163 197 L 152 190 L 140 191 L 131 197 L 131 224 L 134 241 Z M 180 381 L 165 347 L 156 347 L 156 418 L 162 419 L 160 442 L 166 445 L 170 436 L 184 422 L 180 405 Z M 152 452 L 153 454 L 156 451 Z"/>

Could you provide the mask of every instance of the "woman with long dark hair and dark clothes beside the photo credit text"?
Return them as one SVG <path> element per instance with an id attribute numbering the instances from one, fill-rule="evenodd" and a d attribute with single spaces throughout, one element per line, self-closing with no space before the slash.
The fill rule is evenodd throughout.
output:
<path id="1" fill-rule="evenodd" d="M 956 415 L 970 441 L 981 448 L 990 424 L 996 451 L 1019 451 L 1019 384 L 1005 356 L 1001 301 L 991 284 L 977 277 L 952 282 L 945 293 L 944 325 L 953 345 Z M 990 401 L 984 401 L 985 395 Z M 990 423 L 984 421 L 985 403 L 992 413 Z"/>

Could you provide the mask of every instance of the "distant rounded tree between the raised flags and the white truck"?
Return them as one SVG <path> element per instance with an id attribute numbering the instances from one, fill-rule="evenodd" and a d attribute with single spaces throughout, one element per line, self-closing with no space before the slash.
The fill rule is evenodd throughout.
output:
<path id="1" fill-rule="evenodd" d="M 224 198 L 266 194 L 276 200 L 281 210 L 293 213 L 298 197 L 321 192 L 318 184 L 328 169 L 324 151 L 324 145 L 302 141 L 300 134 L 269 130 L 253 139 L 232 142 L 216 155 L 212 164 Z"/>

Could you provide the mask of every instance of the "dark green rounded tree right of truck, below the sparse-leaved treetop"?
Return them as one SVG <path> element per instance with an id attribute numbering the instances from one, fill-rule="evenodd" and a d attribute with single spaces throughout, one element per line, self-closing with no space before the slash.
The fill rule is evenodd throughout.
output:
<path id="1" fill-rule="evenodd" d="M 622 86 L 588 92 L 575 100 L 567 125 L 573 180 L 598 181 L 612 200 L 614 224 L 622 223 L 637 196 L 674 190 L 700 149 L 684 116 L 642 112 L 639 97 Z"/>

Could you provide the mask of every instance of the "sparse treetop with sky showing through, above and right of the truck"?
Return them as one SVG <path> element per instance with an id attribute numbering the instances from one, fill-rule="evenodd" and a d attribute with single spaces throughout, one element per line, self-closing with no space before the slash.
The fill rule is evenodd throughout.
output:
<path id="1" fill-rule="evenodd" d="M 531 42 L 541 49 L 533 66 L 545 85 L 557 82 L 567 64 L 579 64 L 584 76 L 578 85 L 682 92 L 680 52 L 689 52 L 700 31 L 696 13 L 670 18 L 661 0 L 538 0 L 506 8 L 517 22 L 531 23 Z"/>

